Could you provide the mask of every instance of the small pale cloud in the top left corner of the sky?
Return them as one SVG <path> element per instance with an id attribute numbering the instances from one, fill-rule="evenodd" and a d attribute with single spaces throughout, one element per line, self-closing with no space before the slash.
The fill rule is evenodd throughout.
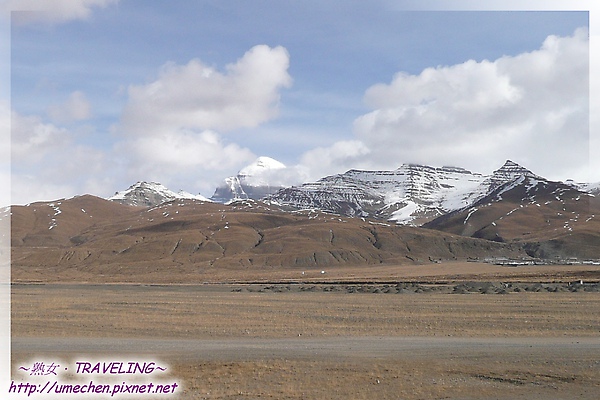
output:
<path id="1" fill-rule="evenodd" d="M 57 24 L 70 20 L 87 19 L 93 8 L 104 8 L 119 0 L 5 0 L 0 3 L 2 14 L 12 14 L 18 25 L 36 23 Z"/>

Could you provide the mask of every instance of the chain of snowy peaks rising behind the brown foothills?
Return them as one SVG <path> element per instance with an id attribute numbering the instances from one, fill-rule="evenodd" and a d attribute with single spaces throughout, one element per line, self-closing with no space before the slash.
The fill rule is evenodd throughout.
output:
<path id="1" fill-rule="evenodd" d="M 458 167 L 404 164 L 393 171 L 350 170 L 316 182 L 286 187 L 286 166 L 269 157 L 228 177 L 210 199 L 172 192 L 157 183 L 138 182 L 109 200 L 136 206 L 156 206 L 175 199 L 230 203 L 262 200 L 285 210 L 314 209 L 349 217 L 370 217 L 421 226 L 443 215 L 468 209 L 504 185 L 528 179 L 528 184 L 570 187 L 584 196 L 598 194 L 600 184 L 553 182 L 507 160 L 491 175 Z M 561 186 L 562 185 L 562 186 Z"/>

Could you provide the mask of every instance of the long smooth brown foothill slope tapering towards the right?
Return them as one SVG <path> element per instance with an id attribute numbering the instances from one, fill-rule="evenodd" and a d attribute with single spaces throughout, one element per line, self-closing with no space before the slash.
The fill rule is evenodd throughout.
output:
<path id="1" fill-rule="evenodd" d="M 180 199 L 142 209 L 89 196 L 62 200 L 56 216 L 51 204 L 57 203 L 14 208 L 16 280 L 201 282 L 223 269 L 320 271 L 525 256 L 510 244 L 330 214 L 281 212 L 260 203 L 249 208 Z M 49 229 L 51 217 L 56 225 Z"/>

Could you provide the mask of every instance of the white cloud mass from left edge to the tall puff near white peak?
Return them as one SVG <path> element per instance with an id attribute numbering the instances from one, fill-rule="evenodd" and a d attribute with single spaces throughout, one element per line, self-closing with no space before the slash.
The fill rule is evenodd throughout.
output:
<path id="1" fill-rule="evenodd" d="M 12 202 L 108 196 L 137 180 L 210 196 L 256 158 L 216 129 L 274 118 L 279 91 L 291 84 L 288 65 L 284 48 L 268 46 L 253 47 L 225 72 L 199 60 L 167 64 L 154 82 L 129 88 L 110 151 L 81 144 L 81 132 L 64 127 L 91 117 L 82 92 L 48 107 L 51 122 L 13 112 Z"/>

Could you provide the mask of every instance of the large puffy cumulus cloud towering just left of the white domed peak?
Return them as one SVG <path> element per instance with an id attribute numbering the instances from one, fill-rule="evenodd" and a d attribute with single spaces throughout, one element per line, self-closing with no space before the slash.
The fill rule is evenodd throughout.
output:
<path id="1" fill-rule="evenodd" d="M 223 134 L 277 116 L 280 91 L 292 82 L 288 66 L 285 48 L 258 45 L 224 72 L 194 59 L 166 64 L 155 81 L 129 87 L 116 128 L 127 175 L 212 195 L 256 158 Z"/>

